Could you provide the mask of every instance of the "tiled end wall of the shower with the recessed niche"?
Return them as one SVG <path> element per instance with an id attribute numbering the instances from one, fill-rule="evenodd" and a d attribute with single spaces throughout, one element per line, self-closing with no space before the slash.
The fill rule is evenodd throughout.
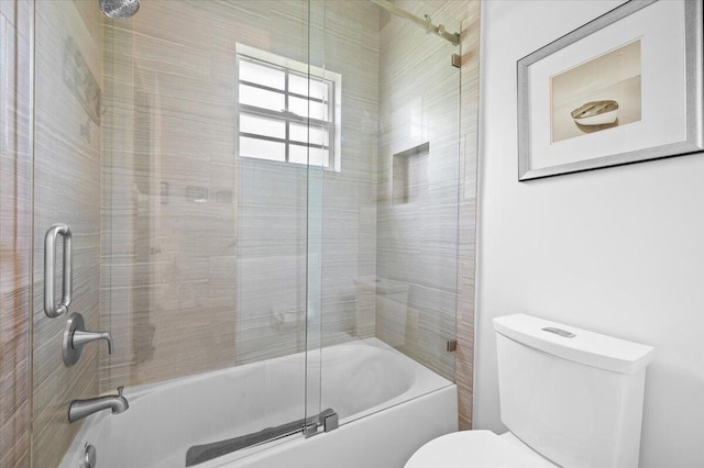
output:
<path id="1" fill-rule="evenodd" d="M 421 2 L 397 4 L 460 31 L 457 16 L 443 20 Z M 376 334 L 452 379 L 446 342 L 454 337 L 457 308 L 460 69 L 451 55 L 459 47 L 383 16 L 376 261 L 398 291 L 377 292 Z"/>

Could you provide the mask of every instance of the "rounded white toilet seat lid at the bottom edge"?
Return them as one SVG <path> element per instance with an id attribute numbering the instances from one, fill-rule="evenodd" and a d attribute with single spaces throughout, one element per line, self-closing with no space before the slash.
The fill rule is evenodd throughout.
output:
<path id="1" fill-rule="evenodd" d="M 430 441 L 416 450 L 404 468 L 437 467 L 556 468 L 557 465 L 510 433 L 498 436 L 491 431 L 462 431 Z"/>

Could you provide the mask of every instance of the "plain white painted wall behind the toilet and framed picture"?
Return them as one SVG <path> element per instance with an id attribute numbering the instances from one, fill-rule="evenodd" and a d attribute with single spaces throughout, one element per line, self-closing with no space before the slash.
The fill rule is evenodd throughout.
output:
<path id="1" fill-rule="evenodd" d="M 492 319 L 657 347 L 642 468 L 704 466 L 704 155 L 517 181 L 516 60 L 618 1 L 485 1 L 474 427 L 502 431 Z"/>

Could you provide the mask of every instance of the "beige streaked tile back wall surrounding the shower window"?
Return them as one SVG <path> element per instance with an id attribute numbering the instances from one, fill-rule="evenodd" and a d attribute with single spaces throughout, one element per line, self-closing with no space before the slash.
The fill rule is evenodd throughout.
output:
<path id="1" fill-rule="evenodd" d="M 378 11 L 311 4 L 324 49 L 304 1 L 161 0 L 106 24 L 101 321 L 117 352 L 103 390 L 302 350 L 309 178 L 235 157 L 238 43 L 343 76 L 323 325 L 355 333 L 354 278 L 375 274 Z"/>

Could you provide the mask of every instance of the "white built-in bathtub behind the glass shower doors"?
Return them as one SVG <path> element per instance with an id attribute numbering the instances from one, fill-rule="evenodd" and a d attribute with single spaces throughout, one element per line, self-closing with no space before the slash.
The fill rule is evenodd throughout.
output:
<path id="1" fill-rule="evenodd" d="M 94 468 L 185 467 L 194 445 L 300 420 L 305 366 L 301 353 L 127 388 L 130 409 L 86 419 L 59 467 L 82 468 L 86 444 L 96 449 Z M 402 468 L 422 444 L 458 428 L 457 387 L 376 338 L 308 353 L 308 372 L 321 376 L 308 415 L 331 408 L 337 430 L 290 435 L 197 467 Z"/>

